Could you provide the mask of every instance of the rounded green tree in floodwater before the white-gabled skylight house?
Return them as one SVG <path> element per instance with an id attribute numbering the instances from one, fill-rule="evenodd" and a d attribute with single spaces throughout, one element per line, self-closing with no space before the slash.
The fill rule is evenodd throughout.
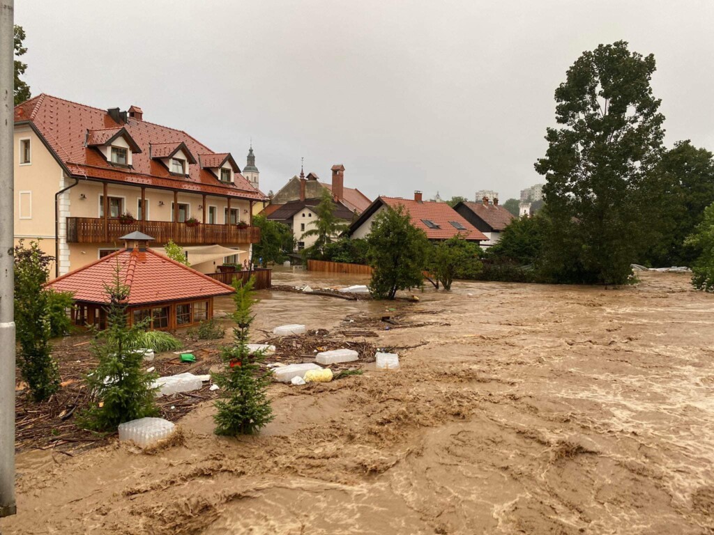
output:
<path id="1" fill-rule="evenodd" d="M 373 297 L 394 299 L 398 290 L 421 286 L 429 243 L 402 205 L 375 216 L 367 243 L 374 268 L 369 283 Z"/>

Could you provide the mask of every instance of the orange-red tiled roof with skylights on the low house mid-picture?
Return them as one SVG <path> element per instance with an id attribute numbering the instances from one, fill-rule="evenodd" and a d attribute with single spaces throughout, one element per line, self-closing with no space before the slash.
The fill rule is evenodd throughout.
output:
<path id="1" fill-rule="evenodd" d="M 453 238 L 458 234 L 461 234 L 466 240 L 488 240 L 481 230 L 478 230 L 478 228 L 471 225 L 471 223 L 468 223 L 466 219 L 446 203 L 436 203 L 433 201 L 418 203 L 416 200 L 399 197 L 376 198 L 369 209 L 365 210 L 360 218 L 351 225 L 349 232 L 353 233 L 356 228 L 366 223 L 370 216 L 382 205 L 387 205 L 391 208 L 397 208 L 399 205 L 402 205 L 409 213 L 412 225 L 416 228 L 421 228 L 421 230 L 426 233 L 426 237 L 430 240 L 448 240 L 448 238 Z M 438 228 L 430 228 L 423 220 L 433 221 Z M 456 228 L 451 224 L 452 221 L 457 223 L 457 225 L 461 225 L 466 230 Z"/>

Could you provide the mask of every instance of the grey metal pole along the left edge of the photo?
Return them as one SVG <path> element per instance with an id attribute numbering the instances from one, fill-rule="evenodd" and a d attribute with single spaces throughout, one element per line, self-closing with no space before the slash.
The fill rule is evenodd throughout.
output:
<path id="1" fill-rule="evenodd" d="M 14 0 L 0 0 L 0 518 L 15 506 Z"/>

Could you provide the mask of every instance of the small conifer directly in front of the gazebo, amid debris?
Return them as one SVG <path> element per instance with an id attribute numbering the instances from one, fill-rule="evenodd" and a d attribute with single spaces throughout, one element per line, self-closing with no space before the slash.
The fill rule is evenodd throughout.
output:
<path id="1" fill-rule="evenodd" d="M 83 424 L 96 431 L 114 431 L 121 423 L 159 414 L 154 404 L 156 388 L 152 387 L 156 374 L 144 372 L 144 355 L 136 351 L 146 322 L 129 327 L 129 287 L 121 282 L 120 275 L 117 260 L 114 280 L 104 285 L 109 297 L 106 329 L 99 332 L 93 346 L 99 366 L 86 377 L 97 403 L 84 414 Z"/>

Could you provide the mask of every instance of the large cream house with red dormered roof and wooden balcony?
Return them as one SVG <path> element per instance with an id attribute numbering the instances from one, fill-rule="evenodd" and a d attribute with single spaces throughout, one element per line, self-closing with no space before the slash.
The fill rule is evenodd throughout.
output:
<path id="1" fill-rule="evenodd" d="M 145 121 L 138 106 L 105 110 L 45 94 L 15 107 L 14 147 L 15 238 L 42 238 L 56 257 L 52 275 L 119 250 L 134 230 L 186 250 L 222 245 L 236 263 L 260 239 L 253 205 L 268 199 L 256 188 L 252 148 L 251 184 L 231 153 Z M 217 263 L 193 267 L 215 272 Z"/>

